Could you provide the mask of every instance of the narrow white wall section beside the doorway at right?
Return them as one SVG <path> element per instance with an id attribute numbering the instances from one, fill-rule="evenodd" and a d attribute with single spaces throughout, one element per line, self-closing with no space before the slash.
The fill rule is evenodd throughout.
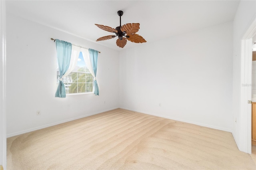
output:
<path id="1" fill-rule="evenodd" d="M 236 140 L 236 144 L 241 151 L 248 152 L 246 147 L 247 132 L 245 127 L 241 126 L 241 116 L 247 113 L 241 112 L 241 97 L 240 92 L 242 90 L 241 81 L 241 42 L 242 37 L 246 33 L 246 30 L 256 17 L 256 1 L 240 1 L 236 16 L 234 18 L 234 35 L 233 35 L 233 136 Z M 243 101 L 246 102 L 246 101 Z M 235 123 L 235 119 L 237 122 Z"/>

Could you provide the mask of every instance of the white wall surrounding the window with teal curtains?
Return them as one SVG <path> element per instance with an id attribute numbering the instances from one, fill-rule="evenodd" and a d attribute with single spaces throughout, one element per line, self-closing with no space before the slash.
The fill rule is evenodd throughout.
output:
<path id="1" fill-rule="evenodd" d="M 117 51 L 11 14 L 6 17 L 8 137 L 118 108 Z M 56 45 L 50 38 L 101 51 L 97 70 L 100 96 L 54 97 Z"/>

